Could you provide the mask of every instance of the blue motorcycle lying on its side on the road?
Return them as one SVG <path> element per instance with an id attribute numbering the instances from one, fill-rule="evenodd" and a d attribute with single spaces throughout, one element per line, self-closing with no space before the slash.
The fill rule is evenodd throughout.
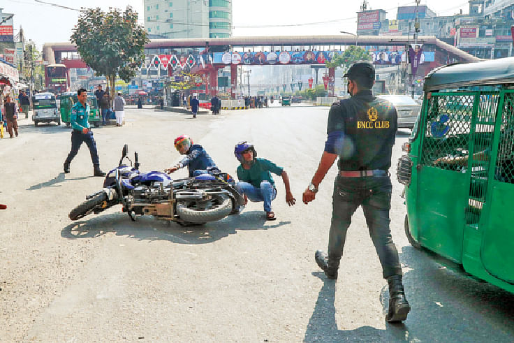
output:
<path id="1" fill-rule="evenodd" d="M 103 190 L 87 196 L 84 203 L 71 210 L 71 220 L 122 204 L 123 212 L 133 221 L 138 215 L 152 215 L 182 225 L 205 224 L 235 214 L 244 205 L 233 179 L 226 173 L 172 180 L 158 171 L 141 173 L 138 153 L 134 153 L 132 166 L 128 151 L 124 145 L 122 159 L 105 176 Z M 130 166 L 124 164 L 125 159 Z"/>

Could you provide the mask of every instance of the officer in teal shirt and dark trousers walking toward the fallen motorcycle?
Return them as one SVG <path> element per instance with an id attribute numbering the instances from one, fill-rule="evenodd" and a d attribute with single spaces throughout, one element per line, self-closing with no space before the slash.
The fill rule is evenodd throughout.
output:
<path id="1" fill-rule="evenodd" d="M 85 142 L 89 147 L 91 160 L 94 166 L 94 176 L 105 176 L 105 173 L 100 169 L 100 161 L 98 160 L 98 151 L 96 150 L 96 142 L 93 138 L 93 131 L 89 129 L 89 105 L 86 103 L 87 91 L 86 89 L 79 89 L 77 92 L 78 102 L 71 108 L 71 151 L 64 161 L 64 173 L 70 173 L 70 163 L 73 157 L 78 152 L 82 142 Z"/>

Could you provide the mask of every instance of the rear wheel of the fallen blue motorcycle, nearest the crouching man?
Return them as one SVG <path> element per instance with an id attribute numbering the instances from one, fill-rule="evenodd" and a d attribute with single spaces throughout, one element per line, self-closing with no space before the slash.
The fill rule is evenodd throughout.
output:
<path id="1" fill-rule="evenodd" d="M 228 196 L 216 197 L 216 203 L 207 210 L 198 210 L 191 205 L 188 207 L 186 201 L 179 201 L 177 203 L 177 214 L 180 219 L 189 223 L 200 224 L 216 221 L 227 217 L 230 212 L 232 212 L 232 200 Z"/>

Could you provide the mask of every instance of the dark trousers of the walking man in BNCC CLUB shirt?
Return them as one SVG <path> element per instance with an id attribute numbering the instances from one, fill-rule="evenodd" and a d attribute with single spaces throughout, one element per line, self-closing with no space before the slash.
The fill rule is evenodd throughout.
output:
<path id="1" fill-rule="evenodd" d="M 332 224 L 328 240 L 328 258 L 339 260 L 343 254 L 346 231 L 351 216 L 362 206 L 369 235 L 382 265 L 383 277 L 402 275 L 398 251 L 392 242 L 389 228 L 391 181 L 382 177 L 341 177 L 334 182 L 332 196 Z"/>

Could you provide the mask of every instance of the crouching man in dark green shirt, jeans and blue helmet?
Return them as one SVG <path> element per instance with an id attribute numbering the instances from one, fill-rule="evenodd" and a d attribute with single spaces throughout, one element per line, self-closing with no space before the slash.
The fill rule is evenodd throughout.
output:
<path id="1" fill-rule="evenodd" d="M 236 159 L 241 162 L 241 165 L 237 167 L 239 182 L 236 184 L 236 189 L 243 195 L 244 205 L 248 203 L 248 199 L 256 202 L 263 201 L 266 219 L 277 219 L 271 208 L 271 202 L 277 197 L 277 189 L 271 173 L 282 177 L 284 187 L 286 187 L 286 203 L 289 206 L 295 205 L 296 199 L 291 193 L 289 177 L 284 168 L 267 159 L 258 159 L 254 145 L 247 142 L 237 143 L 234 154 Z"/>

